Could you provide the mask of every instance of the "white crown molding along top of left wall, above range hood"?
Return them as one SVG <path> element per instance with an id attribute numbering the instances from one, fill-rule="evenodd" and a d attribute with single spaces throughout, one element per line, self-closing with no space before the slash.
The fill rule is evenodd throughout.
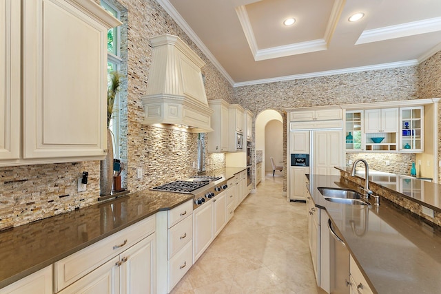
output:
<path id="1" fill-rule="evenodd" d="M 179 12 L 174 8 L 174 6 L 172 6 L 172 3 L 170 3 L 170 1 L 168 0 L 156 0 L 156 1 L 170 15 L 170 17 L 172 17 L 172 19 L 176 21 L 176 23 L 179 25 L 179 27 L 181 27 L 181 29 L 185 32 L 185 34 L 187 34 L 187 36 L 189 36 L 189 38 L 192 39 L 192 41 L 196 44 L 196 46 L 198 46 L 199 50 L 201 50 L 203 54 L 207 56 L 207 59 L 209 59 L 209 61 L 213 63 L 213 65 L 218 69 L 220 74 L 222 74 L 225 77 L 225 79 L 227 79 L 229 84 L 234 85 L 234 80 L 232 79 L 232 77 L 229 76 L 225 68 L 223 68 L 223 66 L 220 65 L 219 61 L 216 59 L 216 57 L 214 57 L 212 52 L 208 50 L 208 48 L 205 46 L 203 41 L 199 39 L 199 37 L 194 32 L 194 30 L 192 30 L 192 28 L 190 28 L 190 26 L 183 19 L 183 17 L 181 17 L 181 14 L 179 14 Z"/>

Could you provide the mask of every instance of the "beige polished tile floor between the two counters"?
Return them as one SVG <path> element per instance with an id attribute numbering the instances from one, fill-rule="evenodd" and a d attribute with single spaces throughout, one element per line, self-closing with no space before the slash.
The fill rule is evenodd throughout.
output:
<path id="1" fill-rule="evenodd" d="M 305 204 L 267 174 L 172 293 L 325 293 L 316 286 Z"/>

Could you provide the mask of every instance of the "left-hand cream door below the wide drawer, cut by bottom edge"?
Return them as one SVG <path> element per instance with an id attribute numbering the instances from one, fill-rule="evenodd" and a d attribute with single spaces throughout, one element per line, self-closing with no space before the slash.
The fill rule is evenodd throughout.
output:
<path id="1" fill-rule="evenodd" d="M 96 294 L 119 292 L 119 256 L 105 262 L 98 269 L 85 275 L 67 288 L 58 292 L 60 294 Z"/>

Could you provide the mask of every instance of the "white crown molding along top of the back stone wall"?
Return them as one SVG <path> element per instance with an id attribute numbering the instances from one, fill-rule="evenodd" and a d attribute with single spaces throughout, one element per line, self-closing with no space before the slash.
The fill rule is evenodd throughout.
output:
<path id="1" fill-rule="evenodd" d="M 393 62 L 393 63 L 382 63 L 377 65 L 367 65 L 367 66 L 360 66 L 360 67 L 349 67 L 342 70 L 327 70 L 325 72 L 311 72 L 309 74 L 294 74 L 291 76 L 280 76 L 278 78 L 264 78 L 261 80 L 254 80 L 254 81 L 247 81 L 247 82 L 240 82 L 240 83 L 234 83 L 234 87 L 243 87 L 247 85 L 258 85 L 258 84 L 265 84 L 265 83 L 276 83 L 281 81 L 292 81 L 292 80 L 300 80 L 302 78 L 316 78 L 320 76 L 334 76 L 336 74 L 350 74 L 353 72 L 365 72 L 369 70 L 384 70 L 389 68 L 396 68 L 396 67 L 406 67 L 406 66 L 413 66 L 418 65 L 418 60 L 413 59 L 409 61 L 399 61 L 399 62 Z"/>

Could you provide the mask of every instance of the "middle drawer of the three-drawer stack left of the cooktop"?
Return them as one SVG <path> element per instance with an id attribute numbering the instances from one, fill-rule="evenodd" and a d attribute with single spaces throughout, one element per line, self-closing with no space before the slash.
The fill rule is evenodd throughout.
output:
<path id="1" fill-rule="evenodd" d="M 168 229 L 168 256 L 170 260 L 187 242 L 193 238 L 193 216 L 190 215 Z"/>

